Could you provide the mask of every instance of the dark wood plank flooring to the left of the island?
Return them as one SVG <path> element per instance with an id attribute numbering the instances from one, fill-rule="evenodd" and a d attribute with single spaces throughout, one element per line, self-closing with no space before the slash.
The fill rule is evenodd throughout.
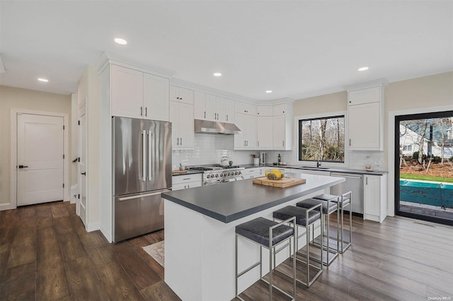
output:
<path id="1" fill-rule="evenodd" d="M 164 230 L 110 244 L 69 202 L 0 211 L 0 300 L 180 300 L 142 247 Z"/>

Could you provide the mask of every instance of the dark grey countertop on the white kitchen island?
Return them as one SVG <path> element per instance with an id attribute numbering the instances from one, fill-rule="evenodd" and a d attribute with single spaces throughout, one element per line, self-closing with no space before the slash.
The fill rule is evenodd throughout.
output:
<path id="1" fill-rule="evenodd" d="M 300 174 L 293 174 L 299 175 Z M 345 182 L 342 177 L 303 175 L 305 184 L 278 188 L 253 184 L 252 179 L 162 193 L 162 197 L 193 211 L 230 223 L 253 213 Z"/>

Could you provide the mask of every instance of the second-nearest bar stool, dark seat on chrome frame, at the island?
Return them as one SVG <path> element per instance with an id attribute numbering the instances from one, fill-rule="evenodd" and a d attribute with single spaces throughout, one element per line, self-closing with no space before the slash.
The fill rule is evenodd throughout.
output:
<path id="1" fill-rule="evenodd" d="M 299 253 L 299 238 L 303 237 L 304 235 L 306 236 L 306 254 L 302 254 L 302 255 L 306 256 L 306 261 L 302 261 L 301 259 L 298 259 L 298 258 L 296 259 L 298 262 L 302 262 L 303 264 L 306 264 L 306 282 L 299 280 L 297 278 L 296 278 L 296 281 L 306 285 L 307 288 L 309 288 L 310 285 L 312 283 L 314 283 L 314 281 L 316 281 L 316 278 L 318 278 L 319 275 L 321 275 L 321 273 L 323 272 L 323 264 L 322 264 L 322 262 L 323 262 L 322 243 L 323 242 L 322 242 L 322 240 L 321 240 L 321 249 L 320 249 L 321 261 L 319 261 L 320 264 L 319 264 L 319 266 L 314 266 L 314 265 L 310 264 L 310 237 L 311 237 L 310 228 L 314 228 L 314 223 L 317 220 L 320 220 L 320 221 L 322 220 L 323 213 L 321 212 L 320 209 L 321 209 L 321 204 L 313 206 L 308 209 L 300 208 L 300 207 L 296 207 L 296 206 L 286 206 L 284 208 L 281 208 L 281 209 L 273 212 L 274 220 L 275 219 L 288 220 L 288 218 L 290 218 L 292 216 L 294 216 L 296 218 L 296 225 L 294 225 L 294 223 L 293 223 L 294 228 L 296 229 L 296 244 L 294 247 L 294 257 L 296 257 L 297 254 L 302 254 L 302 253 Z M 302 233 L 302 235 L 299 235 L 299 229 L 298 229 L 299 226 L 305 228 L 305 232 Z M 321 237 L 323 237 L 322 227 L 321 227 Z M 318 269 L 318 272 L 316 273 L 316 275 L 314 277 L 311 278 L 311 280 L 310 280 L 310 266 Z M 277 272 L 283 273 L 280 271 L 277 271 Z M 286 273 L 283 273 L 283 274 L 286 276 L 289 276 Z"/>

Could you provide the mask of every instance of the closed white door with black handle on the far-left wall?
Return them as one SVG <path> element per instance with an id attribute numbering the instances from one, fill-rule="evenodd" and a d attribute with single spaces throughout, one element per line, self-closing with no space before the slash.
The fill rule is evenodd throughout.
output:
<path id="1" fill-rule="evenodd" d="M 17 122 L 17 205 L 63 200 L 63 117 L 18 114 Z"/>

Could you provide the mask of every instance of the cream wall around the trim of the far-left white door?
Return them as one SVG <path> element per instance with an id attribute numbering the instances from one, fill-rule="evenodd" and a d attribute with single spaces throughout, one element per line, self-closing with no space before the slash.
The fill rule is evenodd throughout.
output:
<path id="1" fill-rule="evenodd" d="M 0 205 L 11 201 L 11 109 L 55 112 L 68 114 L 70 117 L 71 96 L 0 85 Z M 69 129 L 69 158 L 72 158 L 70 141 L 71 129 Z"/>

